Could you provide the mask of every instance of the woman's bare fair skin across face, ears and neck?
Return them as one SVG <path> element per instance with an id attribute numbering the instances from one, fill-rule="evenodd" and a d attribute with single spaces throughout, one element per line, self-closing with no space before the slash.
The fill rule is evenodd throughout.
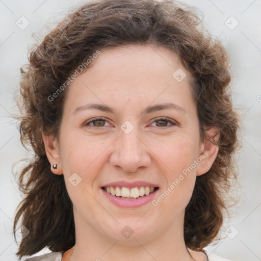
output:
<path id="1" fill-rule="evenodd" d="M 187 74 L 181 82 L 172 76 L 178 68 Z M 206 260 L 203 252 L 189 250 L 189 254 L 186 249 L 184 214 L 196 176 L 211 168 L 218 147 L 200 139 L 190 79 L 171 50 L 128 45 L 102 50 L 94 64 L 68 87 L 59 139 L 43 134 L 43 141 L 50 165 L 58 164 L 51 171 L 64 175 L 73 203 L 76 244 L 70 261 Z M 147 106 L 166 102 L 186 112 L 170 109 L 142 114 Z M 117 114 L 73 113 L 87 103 L 110 106 Z M 95 117 L 106 121 L 84 125 Z M 154 121 L 159 117 L 177 124 Z M 134 126 L 129 134 L 120 128 L 126 120 Z M 212 127 L 208 135 L 215 132 Z M 142 180 L 158 185 L 159 196 L 200 155 L 205 158 L 157 206 L 149 202 L 122 208 L 100 189 L 108 182 Z M 82 181 L 74 187 L 68 178 L 75 172 Z M 133 230 L 127 239 L 121 234 L 126 225 Z M 69 260 L 71 251 L 63 260 Z"/>

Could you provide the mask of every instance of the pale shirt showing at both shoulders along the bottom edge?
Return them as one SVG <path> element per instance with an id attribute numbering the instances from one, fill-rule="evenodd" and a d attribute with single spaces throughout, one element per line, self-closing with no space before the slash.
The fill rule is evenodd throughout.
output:
<path id="1" fill-rule="evenodd" d="M 210 250 L 205 250 L 205 253 L 207 254 L 208 261 L 231 261 L 225 258 L 222 258 L 220 256 L 217 256 L 216 254 L 212 253 Z M 25 259 L 25 261 L 62 261 L 62 255 L 63 252 L 51 252 L 39 256 L 34 256 L 28 259 Z"/>

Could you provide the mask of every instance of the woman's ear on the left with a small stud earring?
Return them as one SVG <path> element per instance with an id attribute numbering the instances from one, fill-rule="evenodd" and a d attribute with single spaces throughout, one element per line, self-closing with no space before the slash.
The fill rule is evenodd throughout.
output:
<path id="1" fill-rule="evenodd" d="M 63 174 L 62 166 L 60 164 L 61 156 L 57 139 L 54 138 L 54 136 L 46 136 L 43 131 L 42 138 L 44 142 L 45 153 L 50 163 L 51 172 L 57 175 Z M 57 164 L 57 169 L 53 168 L 54 164 Z"/>

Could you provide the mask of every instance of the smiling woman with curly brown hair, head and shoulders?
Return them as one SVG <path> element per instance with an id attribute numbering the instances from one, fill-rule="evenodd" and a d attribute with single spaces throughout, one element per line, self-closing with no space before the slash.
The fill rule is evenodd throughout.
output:
<path id="1" fill-rule="evenodd" d="M 200 25 L 179 3 L 99 0 L 31 52 L 19 259 L 226 260 L 203 248 L 237 175 L 238 115 L 227 54 Z"/>

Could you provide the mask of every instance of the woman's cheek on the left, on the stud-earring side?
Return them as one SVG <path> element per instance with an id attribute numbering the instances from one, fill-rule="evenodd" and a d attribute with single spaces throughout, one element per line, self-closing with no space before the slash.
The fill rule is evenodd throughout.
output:
<path id="1" fill-rule="evenodd" d="M 74 207 L 78 210 L 95 208 L 97 202 L 91 195 L 99 190 L 95 180 L 105 164 L 102 152 L 108 144 L 79 133 L 76 135 L 76 132 L 61 133 L 61 144 L 66 189 Z"/>

